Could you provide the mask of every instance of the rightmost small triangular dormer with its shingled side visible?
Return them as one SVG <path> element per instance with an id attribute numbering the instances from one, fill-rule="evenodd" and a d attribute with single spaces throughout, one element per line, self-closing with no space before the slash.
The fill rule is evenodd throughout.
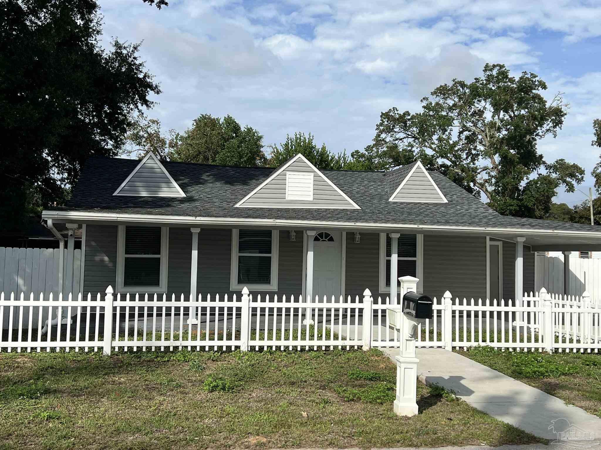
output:
<path id="1" fill-rule="evenodd" d="M 390 202 L 448 203 L 420 161 L 403 166 L 390 175 L 397 182 L 402 178 L 388 199 Z"/>

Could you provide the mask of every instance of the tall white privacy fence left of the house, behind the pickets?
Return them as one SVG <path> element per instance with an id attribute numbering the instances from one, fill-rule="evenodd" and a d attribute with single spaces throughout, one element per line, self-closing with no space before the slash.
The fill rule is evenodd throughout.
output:
<path id="1" fill-rule="evenodd" d="M 44 293 L 49 298 L 52 292 L 58 298 L 60 292 L 79 292 L 81 290 L 81 250 L 73 252 L 73 264 L 64 251 L 63 286 L 58 281 L 60 250 L 58 248 L 12 248 L 0 247 L 0 292 L 5 297 L 10 297 L 14 292 L 16 298 L 23 295 L 25 298 L 39 298 Z M 72 276 L 67 276 L 72 274 Z M 37 323 L 38 311 L 32 311 L 32 322 Z M 44 314 L 47 310 L 44 310 Z M 25 311 L 29 314 L 29 311 Z M 44 315 L 43 321 L 47 319 Z M 27 322 L 29 319 L 25 317 Z M 8 328 L 8 317 L 0 320 L 1 328 Z M 16 326 L 17 323 L 13 323 Z"/>

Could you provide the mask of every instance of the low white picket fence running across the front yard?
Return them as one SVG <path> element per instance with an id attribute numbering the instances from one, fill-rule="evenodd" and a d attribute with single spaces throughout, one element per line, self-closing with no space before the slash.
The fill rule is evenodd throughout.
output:
<path id="1" fill-rule="evenodd" d="M 348 296 L 314 301 L 302 296 L 198 296 L 81 294 L 26 299 L 0 294 L 0 317 L 9 329 L 0 337 L 0 351 L 70 349 L 88 351 L 173 350 L 308 350 L 398 347 L 399 334 L 388 328 L 389 299 L 373 301 L 369 290 L 360 300 Z M 433 299 L 433 319 L 418 327 L 417 347 L 447 350 L 492 346 L 514 351 L 599 352 L 601 307 L 582 298 L 525 294 L 511 300 L 453 300 L 447 291 Z M 194 308 L 194 311 L 191 311 Z M 37 311 L 37 314 L 35 314 Z M 64 312 L 66 314 L 64 315 Z M 192 312 L 192 314 L 191 314 Z M 53 318 L 50 326 L 42 317 Z M 66 320 L 64 317 L 70 317 Z M 189 317 L 198 320 L 188 323 Z M 37 322 L 33 320 L 37 317 Z M 16 323 L 16 326 L 13 324 Z M 108 332 L 106 332 L 108 331 Z"/>

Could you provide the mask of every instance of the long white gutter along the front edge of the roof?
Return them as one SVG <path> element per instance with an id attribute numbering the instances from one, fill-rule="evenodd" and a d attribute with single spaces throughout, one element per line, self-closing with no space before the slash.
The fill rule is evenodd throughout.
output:
<path id="1" fill-rule="evenodd" d="M 601 232 L 568 231 L 568 230 L 535 230 L 522 228 L 496 228 L 496 227 L 457 227 L 441 225 L 418 225 L 398 223 L 364 223 L 364 222 L 326 222 L 319 220 L 282 220 L 263 218 L 228 218 L 228 217 L 203 217 L 203 216 L 178 216 L 178 215 L 150 215 L 150 214 L 120 214 L 106 212 L 81 212 L 81 211 L 43 211 L 42 218 L 49 221 L 82 221 L 87 223 L 112 221 L 118 223 L 160 223 L 181 224 L 188 226 L 256 226 L 256 227 L 303 227 L 320 229 L 353 229 L 353 230 L 407 230 L 412 232 L 449 232 L 449 233 L 478 233 L 482 235 L 529 235 L 529 236 L 571 236 L 573 238 L 601 239 Z"/>

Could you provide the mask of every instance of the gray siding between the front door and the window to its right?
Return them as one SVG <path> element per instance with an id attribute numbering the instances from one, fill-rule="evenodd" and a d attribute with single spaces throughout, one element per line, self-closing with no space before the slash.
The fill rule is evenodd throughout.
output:
<path id="1" fill-rule="evenodd" d="M 354 233 L 346 233 L 346 281 L 345 295 L 363 298 L 367 288 L 377 301 L 380 289 L 380 235 L 361 233 L 361 242 L 355 244 Z"/>

